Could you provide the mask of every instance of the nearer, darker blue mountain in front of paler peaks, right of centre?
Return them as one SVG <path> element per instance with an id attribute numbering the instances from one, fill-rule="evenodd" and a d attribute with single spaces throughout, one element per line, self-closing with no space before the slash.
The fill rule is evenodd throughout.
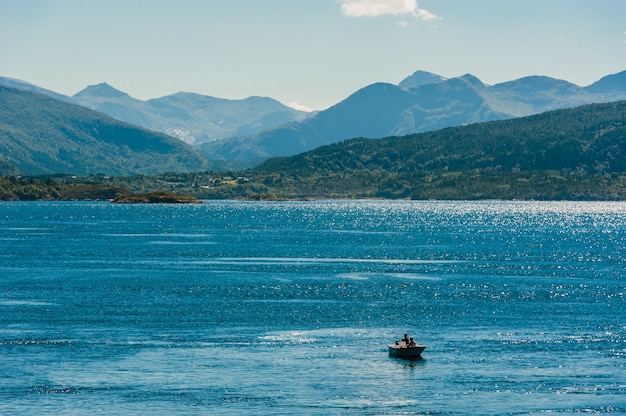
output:
<path id="1" fill-rule="evenodd" d="M 404 135 L 523 114 L 506 113 L 497 97 L 487 100 L 487 95 L 486 87 L 470 75 L 412 89 L 378 83 L 303 122 L 206 143 L 200 150 L 213 159 L 290 156 L 353 137 Z"/>

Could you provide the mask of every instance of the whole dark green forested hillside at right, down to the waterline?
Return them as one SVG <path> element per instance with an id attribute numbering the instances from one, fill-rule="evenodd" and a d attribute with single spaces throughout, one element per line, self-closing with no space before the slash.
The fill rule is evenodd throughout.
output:
<path id="1" fill-rule="evenodd" d="M 301 197 L 624 199 L 626 101 L 353 139 L 271 159 L 255 174 Z"/>

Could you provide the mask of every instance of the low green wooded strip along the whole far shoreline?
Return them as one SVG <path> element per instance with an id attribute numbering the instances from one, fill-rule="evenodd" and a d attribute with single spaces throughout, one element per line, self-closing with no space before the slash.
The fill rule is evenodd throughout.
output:
<path id="1" fill-rule="evenodd" d="M 201 203 L 203 200 L 575 200 L 626 201 L 626 173 L 566 171 L 327 173 L 297 176 L 247 172 L 168 173 L 156 176 L 0 176 L 0 201 L 111 201 Z"/>

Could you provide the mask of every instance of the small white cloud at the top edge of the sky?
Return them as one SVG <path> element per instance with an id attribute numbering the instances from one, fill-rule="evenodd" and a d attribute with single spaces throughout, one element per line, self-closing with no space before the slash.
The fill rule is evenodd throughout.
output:
<path id="1" fill-rule="evenodd" d="M 417 0 L 337 0 L 341 13 L 350 17 L 413 15 L 422 20 L 437 20 L 431 12 L 420 9 Z"/>

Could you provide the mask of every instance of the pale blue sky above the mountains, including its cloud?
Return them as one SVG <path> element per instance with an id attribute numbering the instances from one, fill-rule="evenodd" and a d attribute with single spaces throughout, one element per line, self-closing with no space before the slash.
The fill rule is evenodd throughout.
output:
<path id="1" fill-rule="evenodd" d="M 0 0 L 0 76 L 323 110 L 417 70 L 580 86 L 626 70 L 624 0 Z"/>

